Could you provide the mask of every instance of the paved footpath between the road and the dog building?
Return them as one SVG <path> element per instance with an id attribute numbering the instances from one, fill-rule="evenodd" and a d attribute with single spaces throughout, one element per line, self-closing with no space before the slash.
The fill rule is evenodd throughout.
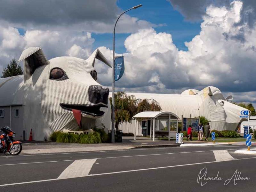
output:
<path id="1" fill-rule="evenodd" d="M 218 143 L 228 144 L 228 143 Z M 77 144 L 57 143 L 49 141 L 22 141 L 21 155 L 47 154 L 47 153 L 73 153 L 89 151 L 125 150 L 134 148 L 156 148 L 156 147 L 189 147 L 209 146 L 212 142 L 206 141 L 184 141 L 184 144 L 177 144 L 175 140 L 150 140 L 149 138 L 123 137 L 122 143 L 99 143 L 99 144 Z M 216 145 L 216 144 L 215 144 Z"/>

